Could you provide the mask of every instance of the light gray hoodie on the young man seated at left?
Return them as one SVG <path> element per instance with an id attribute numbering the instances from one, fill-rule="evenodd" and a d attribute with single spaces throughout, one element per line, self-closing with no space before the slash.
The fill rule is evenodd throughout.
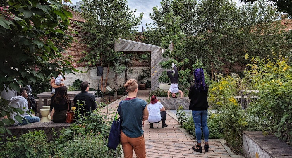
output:
<path id="1" fill-rule="evenodd" d="M 18 96 L 12 97 L 12 98 L 10 99 L 10 103 L 9 103 L 9 105 L 10 105 L 11 107 L 19 108 L 19 109 L 21 109 L 22 111 L 24 111 L 23 114 L 18 114 L 18 113 L 14 112 L 14 111 L 12 112 L 12 114 L 10 114 L 10 118 L 13 119 L 13 120 L 15 121 L 15 123 L 12 124 L 13 126 L 14 126 L 14 125 L 17 125 L 17 124 L 19 123 L 19 122 L 16 121 L 16 119 L 14 118 L 17 114 L 18 114 L 19 116 L 21 116 L 21 117 L 24 117 L 24 116 L 30 116 L 30 115 L 28 114 L 28 112 L 29 112 L 29 109 L 28 109 L 28 101 L 27 101 L 23 96 L 18 95 Z"/>

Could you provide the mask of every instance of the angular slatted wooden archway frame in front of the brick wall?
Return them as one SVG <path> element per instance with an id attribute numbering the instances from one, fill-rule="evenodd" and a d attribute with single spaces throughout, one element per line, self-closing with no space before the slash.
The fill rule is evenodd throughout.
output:
<path id="1" fill-rule="evenodd" d="M 161 61 L 166 61 L 166 58 L 163 58 L 161 55 L 161 47 L 154 46 L 151 44 L 145 44 L 141 42 L 135 42 L 130 40 L 124 40 L 119 38 L 115 42 L 114 46 L 115 51 L 150 51 L 151 54 L 151 90 L 159 88 L 158 78 L 161 75 L 162 71 L 165 71 L 159 63 Z M 155 72 L 156 71 L 156 72 Z"/>

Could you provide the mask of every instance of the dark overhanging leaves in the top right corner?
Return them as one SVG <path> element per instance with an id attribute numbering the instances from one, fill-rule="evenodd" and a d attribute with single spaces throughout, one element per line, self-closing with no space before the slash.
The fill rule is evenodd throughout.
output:
<path id="1" fill-rule="evenodd" d="M 256 2 L 257 0 L 241 0 L 241 2 Z M 288 16 L 292 16 L 292 2 L 291 0 L 269 0 L 275 2 L 275 6 L 277 6 L 277 10 L 279 12 L 287 13 Z"/>

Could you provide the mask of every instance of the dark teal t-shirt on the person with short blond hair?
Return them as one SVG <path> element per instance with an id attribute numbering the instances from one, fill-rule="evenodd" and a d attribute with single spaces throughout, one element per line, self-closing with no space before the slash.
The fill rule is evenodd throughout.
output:
<path id="1" fill-rule="evenodd" d="M 147 103 L 142 99 L 123 100 L 118 113 L 120 114 L 122 125 L 121 130 L 130 138 L 137 138 L 143 134 L 142 119 L 143 110 Z"/>

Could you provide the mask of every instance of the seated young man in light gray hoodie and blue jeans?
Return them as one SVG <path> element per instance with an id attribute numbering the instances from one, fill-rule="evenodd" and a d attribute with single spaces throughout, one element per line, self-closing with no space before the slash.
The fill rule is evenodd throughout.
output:
<path id="1" fill-rule="evenodd" d="M 29 109 L 28 109 L 28 101 L 26 98 L 28 97 L 28 94 L 26 93 L 26 90 L 24 88 L 20 88 L 20 93 L 17 92 L 17 96 L 12 97 L 10 99 L 9 105 L 14 108 L 19 108 L 21 109 L 24 113 L 23 114 L 18 114 L 16 112 L 12 112 L 10 114 L 10 118 L 13 119 L 15 122 L 12 124 L 13 126 L 20 126 L 20 125 L 25 125 L 28 123 L 34 123 L 34 122 L 39 122 L 40 118 L 36 116 L 32 116 L 29 114 Z M 22 123 L 18 122 L 15 117 L 16 115 L 19 115 L 20 117 L 23 117 L 27 119 L 22 119 Z"/>

